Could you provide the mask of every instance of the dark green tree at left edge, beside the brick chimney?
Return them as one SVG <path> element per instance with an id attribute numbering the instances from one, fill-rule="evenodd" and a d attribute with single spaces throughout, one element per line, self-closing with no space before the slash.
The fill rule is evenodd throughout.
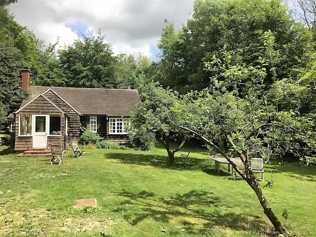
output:
<path id="1" fill-rule="evenodd" d="M 21 52 L 0 43 L 0 101 L 7 113 L 14 112 L 28 94 L 20 88 Z"/>

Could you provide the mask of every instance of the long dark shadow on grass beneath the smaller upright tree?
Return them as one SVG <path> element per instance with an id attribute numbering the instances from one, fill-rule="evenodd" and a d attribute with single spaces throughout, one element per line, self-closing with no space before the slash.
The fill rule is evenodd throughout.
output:
<path id="1" fill-rule="evenodd" d="M 160 168 L 167 169 L 176 169 L 176 170 L 201 170 L 205 173 L 214 174 L 212 169 L 214 169 L 214 164 L 207 159 L 198 159 L 194 157 L 189 157 L 184 163 L 180 163 L 181 160 L 179 157 L 175 157 L 175 164 L 168 165 L 166 164 L 166 157 L 161 155 L 143 155 L 143 154 L 118 154 L 118 153 L 106 153 L 104 155 L 106 159 L 117 160 L 124 164 L 130 165 L 143 165 L 143 166 L 155 166 Z"/>

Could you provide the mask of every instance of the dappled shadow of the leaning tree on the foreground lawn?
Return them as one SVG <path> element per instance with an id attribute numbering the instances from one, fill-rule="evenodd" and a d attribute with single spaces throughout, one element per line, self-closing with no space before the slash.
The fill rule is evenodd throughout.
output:
<path id="1" fill-rule="evenodd" d="M 259 216 L 236 214 L 234 207 L 227 205 L 221 197 L 205 191 L 192 190 L 166 198 L 155 198 L 154 193 L 141 191 L 132 193 L 122 190 L 117 193 L 126 200 L 114 211 L 121 213 L 131 225 L 146 218 L 155 221 L 174 222 L 184 225 L 186 233 L 208 234 L 214 226 L 234 230 L 258 229 L 265 222 Z"/>

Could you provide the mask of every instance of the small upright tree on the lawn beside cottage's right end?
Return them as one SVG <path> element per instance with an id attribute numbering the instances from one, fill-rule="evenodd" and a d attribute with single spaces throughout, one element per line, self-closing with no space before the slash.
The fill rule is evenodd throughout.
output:
<path id="1" fill-rule="evenodd" d="M 156 139 L 168 153 L 168 164 L 174 163 L 174 154 L 178 152 L 185 143 L 186 137 L 180 130 L 177 130 L 168 119 L 169 108 L 174 106 L 178 93 L 165 90 L 159 83 L 150 83 L 139 86 L 140 101 L 134 108 L 131 116 L 131 123 L 134 129 L 154 132 Z M 182 137 L 181 143 L 174 150 L 170 142 Z"/>

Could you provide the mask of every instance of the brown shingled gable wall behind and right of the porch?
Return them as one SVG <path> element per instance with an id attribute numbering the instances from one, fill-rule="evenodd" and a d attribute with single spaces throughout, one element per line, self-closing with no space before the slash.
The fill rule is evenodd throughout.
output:
<path id="1" fill-rule="evenodd" d="M 45 93 L 45 96 L 50 99 L 55 105 L 61 108 L 68 116 L 68 140 L 78 140 L 81 134 L 80 130 L 80 115 L 60 99 L 52 91 Z"/>

